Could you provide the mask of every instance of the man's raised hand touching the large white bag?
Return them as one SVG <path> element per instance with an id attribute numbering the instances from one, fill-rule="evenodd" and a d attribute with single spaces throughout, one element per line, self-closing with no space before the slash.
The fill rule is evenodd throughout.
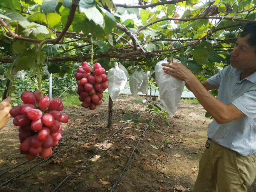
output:
<path id="1" fill-rule="evenodd" d="M 163 63 L 162 66 L 164 66 L 164 73 L 174 76 L 182 81 L 186 82 L 187 80 L 195 77 L 188 68 L 180 63 L 173 62 L 172 65 L 169 63 Z"/>

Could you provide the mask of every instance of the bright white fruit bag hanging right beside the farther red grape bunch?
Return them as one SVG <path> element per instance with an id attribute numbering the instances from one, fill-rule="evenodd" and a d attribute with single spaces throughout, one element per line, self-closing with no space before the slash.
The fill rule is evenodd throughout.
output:
<path id="1" fill-rule="evenodd" d="M 123 69 L 125 68 L 123 67 Z M 124 70 L 118 67 L 118 63 L 115 64 L 115 68 L 108 71 L 108 94 L 112 101 L 117 101 L 118 96 L 124 91 L 127 80 Z"/>

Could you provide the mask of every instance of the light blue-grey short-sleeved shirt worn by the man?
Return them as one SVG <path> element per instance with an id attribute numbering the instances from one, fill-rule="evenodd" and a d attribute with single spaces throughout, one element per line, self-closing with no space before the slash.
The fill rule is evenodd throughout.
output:
<path id="1" fill-rule="evenodd" d="M 256 153 L 256 72 L 240 81 L 241 69 L 231 65 L 207 80 L 219 86 L 218 100 L 232 103 L 246 116 L 234 121 L 209 124 L 207 135 L 218 144 L 242 156 Z"/>

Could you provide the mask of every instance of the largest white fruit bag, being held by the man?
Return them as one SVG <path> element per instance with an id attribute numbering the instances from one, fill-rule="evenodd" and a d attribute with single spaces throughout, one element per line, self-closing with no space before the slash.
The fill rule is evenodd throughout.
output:
<path id="1" fill-rule="evenodd" d="M 181 63 L 179 60 L 176 59 L 174 59 L 173 61 Z M 173 117 L 178 108 L 185 82 L 177 79 L 176 77 L 165 74 L 162 63 L 168 63 L 168 61 L 159 61 L 158 63 L 156 63 L 156 84 L 159 87 L 161 102 L 163 103 L 169 115 Z"/>

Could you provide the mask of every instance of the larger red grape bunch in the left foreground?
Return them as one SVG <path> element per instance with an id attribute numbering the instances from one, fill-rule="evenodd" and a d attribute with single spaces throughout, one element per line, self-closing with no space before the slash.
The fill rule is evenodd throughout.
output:
<path id="1" fill-rule="evenodd" d="M 61 113 L 64 106 L 60 99 L 51 100 L 39 91 L 23 92 L 20 96 L 23 105 L 11 109 L 13 124 L 20 126 L 20 152 L 33 160 L 37 154 L 42 158 L 52 155 L 52 147 L 61 140 L 61 123 L 67 123 L 69 116 Z"/>

